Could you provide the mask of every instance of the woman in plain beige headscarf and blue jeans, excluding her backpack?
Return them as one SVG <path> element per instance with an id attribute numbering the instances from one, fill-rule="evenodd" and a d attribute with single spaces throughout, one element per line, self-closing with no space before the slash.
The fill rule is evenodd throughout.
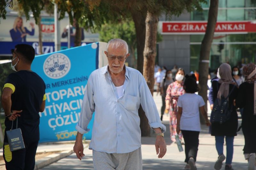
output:
<path id="1" fill-rule="evenodd" d="M 221 169 L 222 162 L 226 159 L 223 154 L 223 145 L 224 138 L 226 137 L 226 146 L 227 146 L 227 159 L 226 159 L 226 169 L 233 169 L 231 166 L 232 158 L 233 158 L 233 142 L 234 137 L 237 135 L 237 126 L 238 126 L 238 117 L 234 105 L 234 100 L 236 99 L 238 89 L 234 82 L 232 82 L 233 78 L 231 75 L 231 67 L 227 63 L 223 63 L 219 67 L 220 79 L 218 81 L 212 81 L 212 89 L 213 89 L 213 102 L 215 100 L 220 100 L 221 96 L 228 97 L 228 108 L 232 109 L 230 118 L 220 124 L 217 122 L 212 123 L 211 135 L 215 136 L 215 146 L 218 152 L 218 160 L 216 161 L 214 168 L 219 170 Z M 233 91 L 232 91 L 233 90 Z"/>

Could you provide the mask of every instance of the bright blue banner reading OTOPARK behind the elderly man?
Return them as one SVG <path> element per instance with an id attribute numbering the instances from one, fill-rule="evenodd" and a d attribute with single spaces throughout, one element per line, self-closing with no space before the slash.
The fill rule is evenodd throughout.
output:
<path id="1" fill-rule="evenodd" d="M 87 80 L 99 65 L 99 42 L 35 57 L 31 69 L 46 85 L 46 106 L 40 114 L 40 141 L 76 139 Z M 88 128 L 92 130 L 92 122 Z M 84 135 L 91 139 L 91 131 Z"/>

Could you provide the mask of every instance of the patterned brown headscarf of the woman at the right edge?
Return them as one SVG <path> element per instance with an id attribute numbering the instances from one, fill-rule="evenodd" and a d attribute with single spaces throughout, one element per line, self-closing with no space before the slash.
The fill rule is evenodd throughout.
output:
<path id="1" fill-rule="evenodd" d="M 254 115 L 256 115 L 256 66 L 253 63 L 249 63 L 244 66 L 243 74 L 245 81 L 248 83 L 254 83 Z"/>

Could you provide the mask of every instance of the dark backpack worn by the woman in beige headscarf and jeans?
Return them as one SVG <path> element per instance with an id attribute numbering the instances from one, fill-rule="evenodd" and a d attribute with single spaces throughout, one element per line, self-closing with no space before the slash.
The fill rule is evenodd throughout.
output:
<path id="1" fill-rule="evenodd" d="M 215 100 L 215 102 L 213 104 L 211 118 L 210 118 L 211 123 L 220 123 L 220 124 L 222 124 L 224 122 L 227 122 L 230 119 L 230 116 L 231 116 L 231 113 L 232 113 L 232 110 L 233 110 L 233 105 L 231 106 L 231 108 L 228 107 L 228 97 L 233 92 L 235 87 L 236 86 L 234 85 L 234 87 L 229 92 L 229 94 L 226 98 L 221 96 L 220 104 L 219 104 L 218 99 Z M 218 87 L 218 91 L 219 91 L 219 87 Z"/>

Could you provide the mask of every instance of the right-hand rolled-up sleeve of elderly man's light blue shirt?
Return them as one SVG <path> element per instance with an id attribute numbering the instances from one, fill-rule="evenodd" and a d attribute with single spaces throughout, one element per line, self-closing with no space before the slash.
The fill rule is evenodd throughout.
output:
<path id="1" fill-rule="evenodd" d="M 156 103 L 143 77 L 140 83 L 139 93 L 140 93 L 140 104 L 144 112 L 146 113 L 149 126 L 152 129 L 161 128 L 162 132 L 164 133 L 166 131 L 166 127 L 162 124 L 160 120 L 160 116 L 156 108 Z"/>

